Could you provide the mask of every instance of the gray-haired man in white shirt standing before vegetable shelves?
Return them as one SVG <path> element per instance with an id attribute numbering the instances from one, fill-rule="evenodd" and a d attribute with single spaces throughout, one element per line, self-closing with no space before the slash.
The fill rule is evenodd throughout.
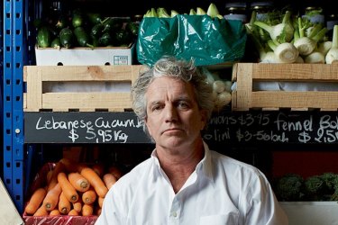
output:
<path id="1" fill-rule="evenodd" d="M 132 87 L 151 157 L 113 185 L 96 224 L 288 224 L 266 177 L 208 148 L 212 87 L 192 61 L 161 58 Z"/>

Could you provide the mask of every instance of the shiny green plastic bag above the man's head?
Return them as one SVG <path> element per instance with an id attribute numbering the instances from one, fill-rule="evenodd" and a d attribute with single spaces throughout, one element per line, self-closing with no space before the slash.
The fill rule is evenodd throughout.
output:
<path id="1" fill-rule="evenodd" d="M 242 21 L 187 14 L 144 17 L 136 45 L 137 59 L 150 67 L 163 56 L 193 58 L 196 66 L 234 62 L 243 57 L 246 39 Z"/>

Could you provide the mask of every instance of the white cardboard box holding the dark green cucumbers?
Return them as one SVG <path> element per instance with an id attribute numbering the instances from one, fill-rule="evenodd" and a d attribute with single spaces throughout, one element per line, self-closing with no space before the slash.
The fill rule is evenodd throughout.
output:
<path id="1" fill-rule="evenodd" d="M 35 48 L 37 66 L 132 65 L 135 44 L 130 47 L 53 49 Z"/>

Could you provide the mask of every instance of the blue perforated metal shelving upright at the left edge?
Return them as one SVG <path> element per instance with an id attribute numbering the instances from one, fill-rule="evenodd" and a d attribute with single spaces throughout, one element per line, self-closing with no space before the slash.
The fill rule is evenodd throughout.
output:
<path id="1" fill-rule="evenodd" d="M 23 0 L 4 0 L 4 183 L 23 211 Z"/>

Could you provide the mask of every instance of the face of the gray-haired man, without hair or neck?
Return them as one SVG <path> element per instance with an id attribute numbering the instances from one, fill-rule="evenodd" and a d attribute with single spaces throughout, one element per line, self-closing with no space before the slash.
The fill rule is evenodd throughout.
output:
<path id="1" fill-rule="evenodd" d="M 206 113 L 198 109 L 192 85 L 170 77 L 156 78 L 146 99 L 146 125 L 157 146 L 185 147 L 200 137 Z"/>

